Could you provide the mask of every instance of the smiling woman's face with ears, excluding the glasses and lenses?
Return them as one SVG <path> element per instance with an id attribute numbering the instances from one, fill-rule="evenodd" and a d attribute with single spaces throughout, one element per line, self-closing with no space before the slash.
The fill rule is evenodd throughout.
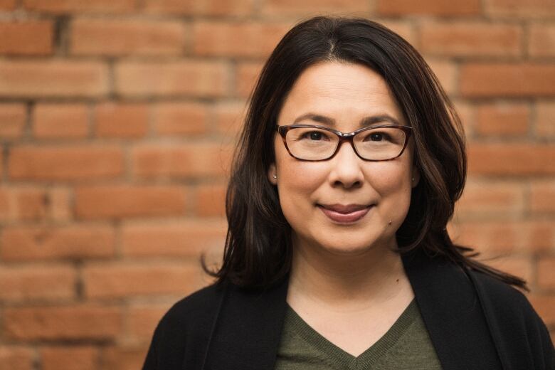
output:
<path id="1" fill-rule="evenodd" d="M 327 117 L 333 123 L 310 117 L 299 120 L 305 115 Z M 297 121 L 353 132 L 361 128 L 364 118 L 373 116 L 388 116 L 406 125 L 380 75 L 364 65 L 325 62 L 300 75 L 277 124 Z M 295 247 L 360 254 L 396 246 L 395 232 L 408 212 L 411 188 L 418 182 L 411 142 L 401 157 L 383 162 L 359 158 L 349 143 L 327 161 L 300 161 L 287 153 L 279 134 L 275 134 L 274 149 L 275 164 L 268 170 L 268 179 L 277 186 Z"/>

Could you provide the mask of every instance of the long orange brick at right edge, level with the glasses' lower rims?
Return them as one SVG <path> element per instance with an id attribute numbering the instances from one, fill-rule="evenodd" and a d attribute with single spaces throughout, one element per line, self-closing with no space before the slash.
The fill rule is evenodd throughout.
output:
<path id="1" fill-rule="evenodd" d="M 468 147 L 470 174 L 555 174 L 555 147 L 542 144 L 477 144 Z"/>

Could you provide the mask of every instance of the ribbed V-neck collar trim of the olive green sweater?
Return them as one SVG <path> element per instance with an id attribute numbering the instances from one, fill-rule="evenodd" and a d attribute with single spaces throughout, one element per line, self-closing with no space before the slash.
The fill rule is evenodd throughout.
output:
<path id="1" fill-rule="evenodd" d="M 353 356 L 330 342 L 322 336 L 322 334 L 319 334 L 319 332 L 307 324 L 307 322 L 305 322 L 305 320 L 302 319 L 302 317 L 300 317 L 299 314 L 297 314 L 297 312 L 290 307 L 290 305 L 286 305 L 287 311 L 285 312 L 285 320 L 290 320 L 295 333 L 297 333 L 312 347 L 322 351 L 331 361 L 334 361 L 334 363 L 337 364 L 338 368 L 341 369 L 366 369 L 369 366 L 374 365 L 376 361 L 384 356 L 387 351 L 391 349 L 391 347 L 393 347 L 399 339 L 401 339 L 411 324 L 418 318 L 416 300 L 412 300 L 380 339 L 366 349 L 366 351 L 359 354 L 359 356 Z"/>

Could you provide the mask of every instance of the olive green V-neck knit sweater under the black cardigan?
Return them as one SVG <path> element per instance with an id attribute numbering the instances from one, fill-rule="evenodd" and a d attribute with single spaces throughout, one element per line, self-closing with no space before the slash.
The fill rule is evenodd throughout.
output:
<path id="1" fill-rule="evenodd" d="M 391 328 L 355 357 L 322 337 L 287 305 L 275 370 L 441 369 L 413 300 Z"/>

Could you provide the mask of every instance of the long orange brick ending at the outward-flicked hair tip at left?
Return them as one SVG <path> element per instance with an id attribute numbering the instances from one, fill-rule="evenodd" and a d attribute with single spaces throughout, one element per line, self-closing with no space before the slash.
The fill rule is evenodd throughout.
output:
<path id="1" fill-rule="evenodd" d="M 103 263 L 83 269 L 85 296 L 123 298 L 149 295 L 188 295 L 200 286 L 197 264 Z"/>

